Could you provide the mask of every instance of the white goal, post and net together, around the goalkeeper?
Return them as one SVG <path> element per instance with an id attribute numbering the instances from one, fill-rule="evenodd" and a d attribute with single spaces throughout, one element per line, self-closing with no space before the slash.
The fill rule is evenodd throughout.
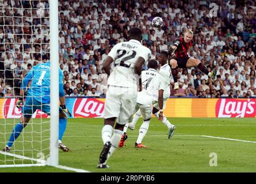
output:
<path id="1" fill-rule="evenodd" d="M 0 1 L 0 89 L 5 90 L 0 98 L 0 168 L 59 164 L 58 24 L 58 0 Z M 40 110 L 31 114 L 10 152 L 3 152 L 22 116 L 16 101 L 30 70 L 25 66 L 46 60 L 51 62 L 51 117 Z"/>

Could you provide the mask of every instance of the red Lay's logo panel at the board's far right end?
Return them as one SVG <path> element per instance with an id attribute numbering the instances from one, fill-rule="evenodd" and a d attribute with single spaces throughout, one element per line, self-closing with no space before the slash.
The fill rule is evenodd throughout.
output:
<path id="1" fill-rule="evenodd" d="M 255 117 L 255 99 L 219 99 L 216 103 L 216 117 Z"/>

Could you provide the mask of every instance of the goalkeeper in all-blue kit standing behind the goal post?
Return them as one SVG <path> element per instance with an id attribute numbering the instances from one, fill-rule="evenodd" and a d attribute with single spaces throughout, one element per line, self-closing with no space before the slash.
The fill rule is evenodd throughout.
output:
<path id="1" fill-rule="evenodd" d="M 23 104 L 23 97 L 25 92 L 26 101 L 24 106 L 22 106 L 23 116 L 20 118 L 20 122 L 14 127 L 12 134 L 10 135 L 9 141 L 7 142 L 3 151 L 9 152 L 12 147 L 14 141 L 18 138 L 22 129 L 26 127 L 33 113 L 36 112 L 37 109 L 43 111 L 50 115 L 50 62 L 41 63 L 37 66 L 33 67 L 32 70 L 29 71 L 28 75 L 25 76 L 21 83 L 20 90 L 20 98 L 16 102 L 17 108 L 21 108 L 21 104 Z M 28 84 L 30 86 L 28 87 Z M 59 148 L 64 152 L 70 151 L 68 147 L 62 144 L 62 137 L 67 127 L 67 115 L 71 116 L 70 112 L 68 112 L 65 105 L 65 97 L 63 90 L 63 72 L 59 68 Z"/>

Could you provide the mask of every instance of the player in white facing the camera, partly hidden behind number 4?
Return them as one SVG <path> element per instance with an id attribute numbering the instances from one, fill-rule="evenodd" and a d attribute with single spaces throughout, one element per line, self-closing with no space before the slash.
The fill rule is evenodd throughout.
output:
<path id="1" fill-rule="evenodd" d="M 161 63 L 161 69 L 159 71 L 159 74 L 162 76 L 162 83 L 165 86 L 165 89 L 163 91 L 163 107 L 159 108 L 158 105 L 158 97 L 155 96 L 154 97 L 154 101 L 152 102 L 153 104 L 153 109 L 152 109 L 152 113 L 155 115 L 155 117 L 159 118 L 159 114 L 158 112 L 163 112 L 163 109 L 166 108 L 166 101 L 167 99 L 169 99 L 170 97 L 170 80 L 171 80 L 171 68 L 169 66 L 169 64 L 167 63 L 167 59 L 168 59 L 168 53 L 166 51 L 161 51 L 161 55 L 160 55 L 160 60 L 159 62 Z M 157 94 L 157 93 L 156 93 Z M 141 112 L 140 110 L 138 110 L 132 120 L 132 123 L 129 124 L 129 129 L 134 129 L 136 122 L 139 120 L 140 116 L 141 116 Z M 174 135 L 174 130 L 175 130 L 175 125 L 172 125 L 170 123 L 169 120 L 167 120 L 167 118 L 163 115 L 163 118 L 161 120 L 163 122 L 163 124 L 165 124 L 168 127 L 168 138 L 170 139 L 170 137 L 173 137 Z"/>

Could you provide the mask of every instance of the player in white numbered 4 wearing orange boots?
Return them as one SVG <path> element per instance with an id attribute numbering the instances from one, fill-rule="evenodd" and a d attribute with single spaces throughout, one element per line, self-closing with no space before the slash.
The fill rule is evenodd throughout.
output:
<path id="1" fill-rule="evenodd" d="M 148 131 L 148 127 L 150 125 L 151 113 L 152 113 L 152 102 L 154 101 L 154 97 L 156 93 L 159 93 L 161 90 L 162 93 L 159 95 L 160 98 L 159 106 L 163 106 L 163 90 L 165 86 L 162 85 L 162 76 L 158 74 L 156 69 L 158 68 L 158 62 L 154 59 L 151 59 L 148 62 L 148 70 L 142 71 L 142 91 L 140 91 L 137 95 L 137 103 L 135 106 L 135 111 L 140 109 L 143 117 L 143 124 L 140 126 L 139 129 L 139 137 L 135 143 L 135 147 L 147 147 L 146 145 L 142 144 L 142 140 Z M 161 118 L 162 113 L 159 115 Z M 120 140 L 119 147 L 124 146 L 124 142 L 127 139 L 127 127 L 128 124 L 124 127 L 124 133 L 122 139 Z"/>

